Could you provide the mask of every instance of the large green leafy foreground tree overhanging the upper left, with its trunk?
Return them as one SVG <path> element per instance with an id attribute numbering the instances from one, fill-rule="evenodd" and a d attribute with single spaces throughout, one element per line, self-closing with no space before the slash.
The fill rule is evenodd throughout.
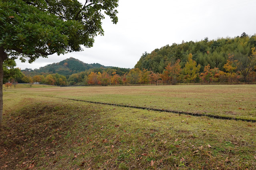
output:
<path id="1" fill-rule="evenodd" d="M 20 57 L 32 63 L 47 57 L 92 47 L 103 35 L 104 13 L 117 23 L 118 0 L 0 1 L 0 127 L 2 126 L 3 62 Z"/>

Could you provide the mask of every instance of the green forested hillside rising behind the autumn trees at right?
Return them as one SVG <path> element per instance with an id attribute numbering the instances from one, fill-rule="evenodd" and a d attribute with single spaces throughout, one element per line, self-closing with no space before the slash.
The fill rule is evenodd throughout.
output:
<path id="1" fill-rule="evenodd" d="M 182 42 L 166 45 L 155 49 L 151 53 L 143 53 L 135 68 L 152 70 L 155 73 L 162 73 L 168 63 L 174 64 L 180 59 L 181 68 L 185 66 L 189 53 L 192 53 L 197 64 L 201 65 L 200 72 L 210 64 L 211 68 L 219 68 L 224 71 L 224 64 L 227 63 L 229 54 L 250 55 L 252 47 L 256 47 L 256 35 L 249 37 L 246 33 L 236 38 L 220 38 L 208 40 L 205 38 L 200 42 Z"/>

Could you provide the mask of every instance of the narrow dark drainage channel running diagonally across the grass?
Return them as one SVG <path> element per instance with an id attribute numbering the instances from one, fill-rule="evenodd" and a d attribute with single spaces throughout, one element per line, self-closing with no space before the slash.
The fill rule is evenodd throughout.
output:
<path id="1" fill-rule="evenodd" d="M 52 97 L 52 96 L 43 96 L 43 97 Z M 63 98 L 63 97 L 52 97 L 52 98 L 67 99 L 67 100 L 73 100 L 73 101 L 82 101 L 82 102 L 102 104 L 102 105 L 112 105 L 112 106 L 119 106 L 119 107 L 129 107 L 129 108 L 143 109 L 143 110 L 150 110 L 150 111 L 158 111 L 158 112 L 177 113 L 177 114 L 197 116 L 197 117 L 205 116 L 205 117 L 211 117 L 211 118 L 214 118 L 214 119 L 222 119 L 222 120 L 246 121 L 246 122 L 252 122 L 252 123 L 256 122 L 256 120 L 252 120 L 252 119 L 241 119 L 241 118 L 232 118 L 232 117 L 224 117 L 224 116 L 206 115 L 206 114 L 200 114 L 200 113 L 189 113 L 189 112 L 183 112 L 183 111 L 154 109 L 154 108 L 150 108 L 150 107 L 137 107 L 137 106 L 129 106 L 129 105 L 119 105 L 119 104 L 102 103 L 102 102 L 96 102 L 96 101 L 69 99 L 69 98 Z"/>

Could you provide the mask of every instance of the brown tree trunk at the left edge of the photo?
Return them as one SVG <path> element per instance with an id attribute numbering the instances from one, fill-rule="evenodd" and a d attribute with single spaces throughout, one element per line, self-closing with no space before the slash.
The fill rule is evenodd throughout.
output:
<path id="1" fill-rule="evenodd" d="M 7 54 L 4 51 L 3 47 L 0 47 L 0 128 L 2 128 L 2 120 L 3 120 L 3 62 L 7 58 Z"/>

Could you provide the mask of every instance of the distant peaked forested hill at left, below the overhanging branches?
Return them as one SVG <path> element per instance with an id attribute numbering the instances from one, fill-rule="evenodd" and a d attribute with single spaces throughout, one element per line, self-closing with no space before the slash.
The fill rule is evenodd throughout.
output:
<path id="1" fill-rule="evenodd" d="M 70 57 L 59 63 L 48 64 L 44 67 L 40 67 L 39 69 L 24 69 L 22 72 L 27 76 L 39 75 L 41 73 L 58 73 L 60 75 L 71 75 L 73 73 L 79 73 L 81 71 L 85 71 L 88 69 L 94 68 L 109 68 L 99 63 L 87 64 L 79 59 L 75 59 Z"/>

